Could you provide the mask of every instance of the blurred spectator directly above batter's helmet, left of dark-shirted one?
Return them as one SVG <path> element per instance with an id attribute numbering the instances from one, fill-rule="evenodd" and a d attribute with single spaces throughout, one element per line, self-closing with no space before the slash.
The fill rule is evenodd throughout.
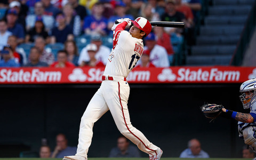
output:
<path id="1" fill-rule="evenodd" d="M 157 12 L 153 12 L 153 6 L 150 3 L 143 4 L 141 7 L 141 16 L 149 21 L 159 21 L 160 17 Z"/>

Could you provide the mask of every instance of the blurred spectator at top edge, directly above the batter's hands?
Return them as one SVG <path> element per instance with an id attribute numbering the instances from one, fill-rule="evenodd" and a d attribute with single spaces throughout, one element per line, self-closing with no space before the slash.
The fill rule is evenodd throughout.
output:
<path id="1" fill-rule="evenodd" d="M 140 7 L 143 1 L 123 0 L 123 2 L 126 5 L 126 14 L 131 14 L 132 17 L 139 17 Z"/>

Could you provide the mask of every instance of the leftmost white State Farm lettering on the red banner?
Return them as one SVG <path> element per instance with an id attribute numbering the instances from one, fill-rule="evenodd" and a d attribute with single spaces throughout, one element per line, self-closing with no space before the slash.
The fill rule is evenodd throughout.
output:
<path id="1" fill-rule="evenodd" d="M 0 82 L 60 82 L 60 71 L 13 71 L 12 69 L 1 69 Z"/>

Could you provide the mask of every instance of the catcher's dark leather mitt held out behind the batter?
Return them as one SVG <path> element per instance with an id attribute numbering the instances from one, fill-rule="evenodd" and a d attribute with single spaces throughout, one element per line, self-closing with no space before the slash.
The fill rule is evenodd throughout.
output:
<path id="1" fill-rule="evenodd" d="M 204 116 L 210 119 L 215 119 L 221 114 L 221 109 L 224 108 L 222 105 L 205 104 L 200 107 Z"/>

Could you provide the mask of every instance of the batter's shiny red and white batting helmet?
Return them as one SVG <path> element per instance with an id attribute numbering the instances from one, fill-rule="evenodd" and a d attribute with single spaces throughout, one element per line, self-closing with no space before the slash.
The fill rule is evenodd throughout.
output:
<path id="1" fill-rule="evenodd" d="M 145 31 L 146 36 L 151 32 L 152 26 L 146 18 L 138 17 L 137 19 L 132 21 L 132 23 L 140 30 Z"/>

